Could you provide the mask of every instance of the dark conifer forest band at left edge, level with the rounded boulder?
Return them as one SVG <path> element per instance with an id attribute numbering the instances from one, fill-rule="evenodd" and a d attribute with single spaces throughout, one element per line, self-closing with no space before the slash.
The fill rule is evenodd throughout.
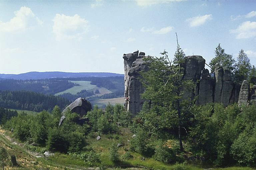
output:
<path id="1" fill-rule="evenodd" d="M 64 109 L 70 101 L 53 95 L 31 91 L 0 91 L 0 107 L 40 112 L 52 110 L 55 105 Z"/>

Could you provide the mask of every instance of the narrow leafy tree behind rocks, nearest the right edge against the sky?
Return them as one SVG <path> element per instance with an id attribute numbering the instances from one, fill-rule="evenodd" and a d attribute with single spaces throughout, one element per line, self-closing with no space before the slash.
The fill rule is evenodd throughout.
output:
<path id="1" fill-rule="evenodd" d="M 251 69 L 252 65 L 250 63 L 250 59 L 245 54 L 244 50 L 241 49 L 239 51 L 237 62 L 235 64 L 235 82 L 242 84 L 243 80 L 247 80 Z"/>

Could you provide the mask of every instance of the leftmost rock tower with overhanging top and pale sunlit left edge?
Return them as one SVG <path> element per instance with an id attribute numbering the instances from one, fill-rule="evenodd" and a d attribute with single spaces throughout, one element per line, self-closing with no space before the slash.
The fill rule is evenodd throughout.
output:
<path id="1" fill-rule="evenodd" d="M 125 98 L 128 97 L 129 101 L 126 102 L 125 107 L 127 111 L 130 111 L 132 114 L 136 114 L 142 108 L 144 100 L 141 99 L 140 94 L 143 93 L 144 87 L 141 82 L 138 80 L 139 72 L 147 69 L 148 62 L 143 61 L 143 58 L 146 58 L 145 53 L 135 51 L 133 53 L 124 54 L 124 84 Z"/>

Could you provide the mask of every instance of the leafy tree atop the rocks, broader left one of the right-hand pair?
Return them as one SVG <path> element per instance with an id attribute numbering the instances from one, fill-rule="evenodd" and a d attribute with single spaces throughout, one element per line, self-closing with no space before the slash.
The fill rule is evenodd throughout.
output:
<path id="1" fill-rule="evenodd" d="M 230 71 L 234 69 L 235 60 L 230 54 L 226 54 L 225 50 L 221 48 L 220 43 L 215 49 L 215 57 L 211 59 L 209 63 L 212 67 L 211 72 L 214 71 L 214 65 L 219 63 L 222 67 L 227 67 Z"/>

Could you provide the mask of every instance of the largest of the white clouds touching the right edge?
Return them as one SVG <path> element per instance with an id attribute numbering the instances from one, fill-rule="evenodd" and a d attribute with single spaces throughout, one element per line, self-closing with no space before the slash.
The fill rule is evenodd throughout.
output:
<path id="1" fill-rule="evenodd" d="M 237 39 L 256 37 L 256 22 L 245 21 L 240 24 L 237 29 L 230 30 L 230 33 L 237 34 Z"/>

